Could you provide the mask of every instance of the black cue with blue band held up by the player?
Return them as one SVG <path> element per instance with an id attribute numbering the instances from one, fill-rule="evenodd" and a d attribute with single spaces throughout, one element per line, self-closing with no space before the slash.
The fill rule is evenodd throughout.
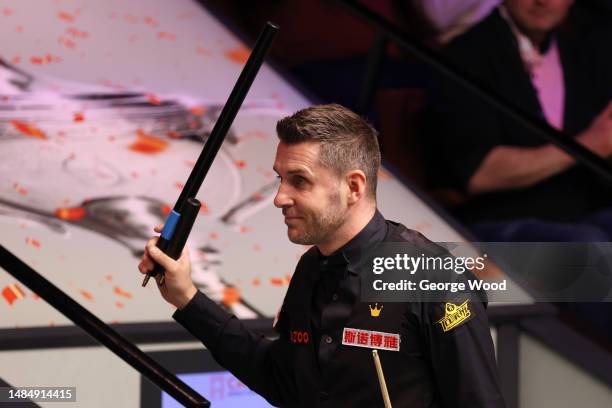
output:
<path id="1" fill-rule="evenodd" d="M 259 34 L 255 47 L 185 183 L 183 191 L 181 191 L 174 208 L 168 215 L 168 218 L 166 218 L 164 229 L 156 246 L 173 259 L 180 257 L 198 214 L 200 203 L 194 197 L 202 186 L 204 178 L 223 143 L 223 139 L 225 139 L 225 135 L 249 92 L 259 68 L 263 64 L 264 57 L 270 49 L 277 31 L 277 26 L 267 22 L 263 31 Z M 142 286 L 146 286 L 149 279 L 158 274 L 161 275 L 160 284 L 163 284 L 164 269 L 156 263 L 153 270 L 145 276 Z"/>

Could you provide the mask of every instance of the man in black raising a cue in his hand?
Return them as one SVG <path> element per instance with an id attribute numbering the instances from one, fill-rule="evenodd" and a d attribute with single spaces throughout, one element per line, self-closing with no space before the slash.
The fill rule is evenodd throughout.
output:
<path id="1" fill-rule="evenodd" d="M 298 111 L 277 124 L 274 170 L 289 239 L 314 245 L 300 259 L 268 340 L 198 292 L 185 252 L 174 261 L 149 241 L 139 265 L 165 269 L 164 299 L 174 318 L 215 359 L 270 403 L 285 407 L 375 407 L 383 400 L 371 350 L 345 328 L 390 339 L 380 357 L 395 407 L 502 407 L 485 304 L 444 331 L 441 303 L 359 301 L 356 261 L 381 242 L 432 246 L 376 210 L 380 151 L 374 129 L 339 105 Z M 160 229 L 156 229 L 157 232 Z M 348 343 L 348 344 L 347 344 Z"/>

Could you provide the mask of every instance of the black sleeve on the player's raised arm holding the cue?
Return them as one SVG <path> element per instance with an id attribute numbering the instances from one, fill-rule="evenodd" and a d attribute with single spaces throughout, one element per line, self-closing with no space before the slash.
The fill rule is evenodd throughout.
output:
<path id="1" fill-rule="evenodd" d="M 219 364 L 269 403 L 285 405 L 294 399 L 297 392 L 287 365 L 284 331 L 279 330 L 276 340 L 258 335 L 200 291 L 172 317 L 202 341 Z"/>

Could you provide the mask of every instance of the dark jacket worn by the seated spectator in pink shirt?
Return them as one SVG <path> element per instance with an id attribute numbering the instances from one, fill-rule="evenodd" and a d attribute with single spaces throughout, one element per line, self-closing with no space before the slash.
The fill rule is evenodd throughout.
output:
<path id="1" fill-rule="evenodd" d="M 563 131 L 567 137 L 575 137 L 612 99 L 609 31 L 592 30 L 580 39 L 568 33 L 554 36 L 565 82 Z M 525 113 L 544 120 L 515 37 L 497 10 L 451 42 L 445 52 L 459 69 Z M 443 172 L 454 186 L 465 189 L 496 146 L 548 143 L 454 83 L 444 79 L 439 83 L 444 105 L 436 150 Z M 574 166 L 533 187 L 475 195 L 458 208 L 457 215 L 468 222 L 523 217 L 573 221 L 608 205 L 609 198 L 609 189 L 597 176 Z"/>

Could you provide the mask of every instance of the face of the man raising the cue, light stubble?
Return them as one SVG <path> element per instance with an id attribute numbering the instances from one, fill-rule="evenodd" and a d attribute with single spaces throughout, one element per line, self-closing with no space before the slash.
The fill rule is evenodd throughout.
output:
<path id="1" fill-rule="evenodd" d="M 278 144 L 274 170 L 281 183 L 274 205 L 282 208 L 289 240 L 329 242 L 346 220 L 346 183 L 319 163 L 319 143 Z"/>

